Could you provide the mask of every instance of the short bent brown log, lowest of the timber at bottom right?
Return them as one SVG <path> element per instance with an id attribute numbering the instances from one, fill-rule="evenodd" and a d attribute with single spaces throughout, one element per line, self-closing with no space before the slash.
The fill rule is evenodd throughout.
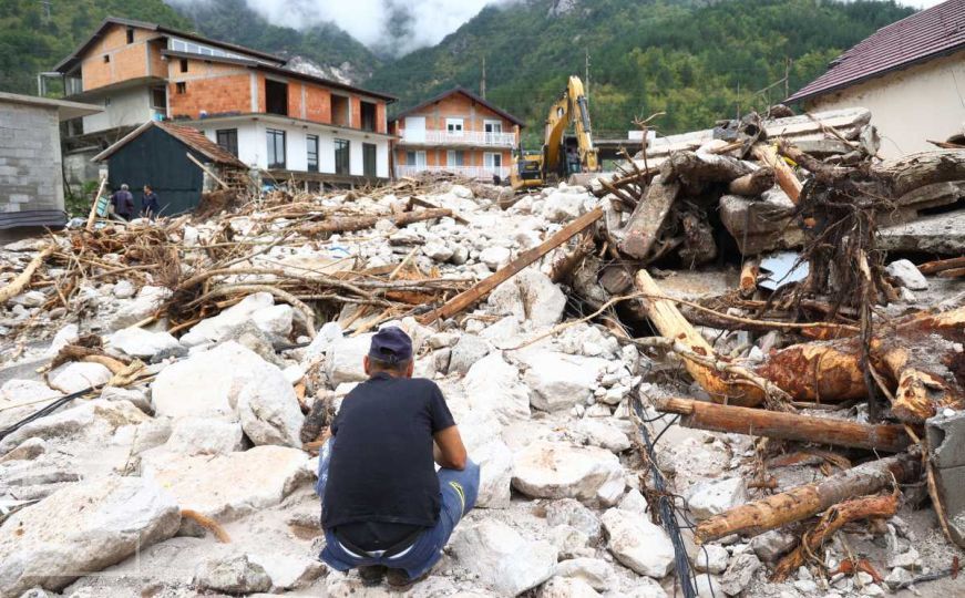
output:
<path id="1" fill-rule="evenodd" d="M 897 494 L 864 496 L 834 505 L 821 517 L 813 529 L 804 534 L 801 545 L 794 548 L 778 564 L 772 581 L 783 581 L 791 574 L 798 573 L 798 567 L 804 565 L 808 555 L 813 555 L 839 529 L 851 522 L 869 518 L 889 518 L 897 513 Z"/>

